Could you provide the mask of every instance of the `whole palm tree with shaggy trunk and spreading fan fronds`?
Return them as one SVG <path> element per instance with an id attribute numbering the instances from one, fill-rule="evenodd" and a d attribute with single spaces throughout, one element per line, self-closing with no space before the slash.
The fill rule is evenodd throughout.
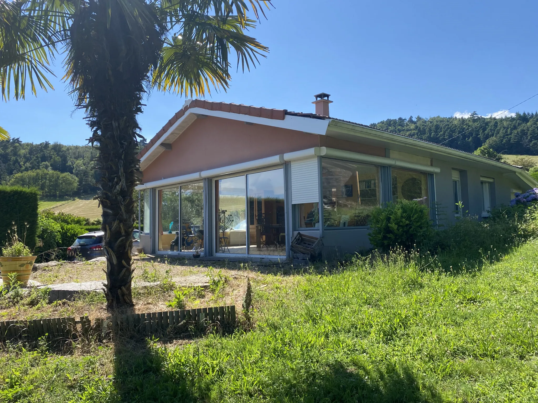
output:
<path id="1" fill-rule="evenodd" d="M 0 4 L 7 1 L 0 0 Z M 256 25 L 256 20 L 247 18 L 249 7 L 259 20 L 259 12 L 263 13 L 262 8 L 270 2 L 20 2 L 17 16 L 36 20 L 36 29 L 32 28 L 33 39 L 12 54 L 25 55 L 34 65 L 33 70 L 29 68 L 25 74 L 16 75 L 15 69 L 25 61 L 6 62 L 0 54 L 0 67 L 7 66 L 0 70 L 2 94 L 9 98 L 12 80 L 15 97 L 20 97 L 26 84 L 20 77 L 31 77 L 30 72 L 41 80 L 41 88 L 50 87 L 46 81 L 46 75 L 51 74 L 48 60 L 56 53 L 58 44 L 65 48 L 66 81 L 76 106 L 86 112 L 92 132 L 89 141 L 98 148 L 101 179 L 96 198 L 103 209 L 108 307 L 131 305 L 131 249 L 137 203 L 133 195 L 140 179 L 137 115 L 142 112 L 143 96 L 152 88 L 197 96 L 212 87 L 225 90 L 230 80 L 231 52 L 237 54 L 238 66 L 243 70 L 255 66 L 258 56 L 267 52 L 245 30 Z M 10 40 L 1 29 L 0 52 Z M 38 51 L 41 59 L 32 57 L 32 52 Z"/>

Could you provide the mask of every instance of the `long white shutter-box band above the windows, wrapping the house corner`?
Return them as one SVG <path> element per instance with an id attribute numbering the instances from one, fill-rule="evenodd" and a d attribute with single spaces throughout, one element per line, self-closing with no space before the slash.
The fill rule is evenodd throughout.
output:
<path id="1" fill-rule="evenodd" d="M 160 181 L 147 182 L 136 186 L 136 188 L 134 189 L 142 190 L 149 188 L 157 188 L 160 186 L 173 185 L 181 182 L 196 181 L 196 179 L 211 178 L 215 176 L 233 174 L 233 172 L 242 172 L 251 169 L 271 167 L 272 165 L 280 165 L 289 161 L 305 160 L 315 156 L 325 156 L 328 158 L 336 158 L 341 160 L 364 162 L 375 165 L 385 165 L 387 167 L 412 169 L 415 171 L 428 172 L 430 174 L 438 174 L 438 172 L 441 171 L 441 169 L 437 167 L 429 167 L 428 165 L 415 164 L 412 162 L 395 160 L 393 158 L 353 153 L 351 151 L 338 150 L 336 148 L 313 147 L 307 148 L 305 150 L 294 151 L 292 153 L 274 155 L 272 157 L 266 157 L 260 160 L 228 165 L 228 167 L 208 169 L 206 171 L 194 172 L 193 174 L 174 176 L 172 178 L 161 179 Z"/>

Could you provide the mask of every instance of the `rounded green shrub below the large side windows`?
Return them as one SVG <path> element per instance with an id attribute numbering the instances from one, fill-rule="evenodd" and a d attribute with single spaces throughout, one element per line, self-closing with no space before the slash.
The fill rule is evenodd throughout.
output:
<path id="1" fill-rule="evenodd" d="M 398 200 L 384 207 L 374 208 L 371 215 L 372 231 L 368 234 L 376 248 L 410 248 L 426 241 L 431 232 L 428 207 L 414 200 Z"/>

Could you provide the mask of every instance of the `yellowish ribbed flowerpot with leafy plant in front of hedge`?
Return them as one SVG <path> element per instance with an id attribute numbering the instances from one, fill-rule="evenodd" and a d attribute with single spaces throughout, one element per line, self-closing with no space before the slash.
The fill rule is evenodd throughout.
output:
<path id="1" fill-rule="evenodd" d="M 4 285 L 10 284 L 10 278 L 13 278 L 13 274 L 17 274 L 17 281 L 22 286 L 28 285 L 36 258 L 37 256 L 32 256 L 30 248 L 19 239 L 17 227 L 13 226 L 13 232 L 8 231 L 8 241 L 2 248 L 2 256 L 0 256 L 0 271 Z"/>

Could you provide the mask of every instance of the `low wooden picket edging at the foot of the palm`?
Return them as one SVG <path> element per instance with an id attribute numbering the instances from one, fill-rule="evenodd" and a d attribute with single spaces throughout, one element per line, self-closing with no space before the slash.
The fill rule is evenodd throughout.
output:
<path id="1" fill-rule="evenodd" d="M 109 318 L 73 316 L 30 320 L 0 321 L 0 342 L 47 340 L 74 340 L 79 337 L 95 336 L 99 339 L 111 335 L 138 334 L 160 336 L 172 334 L 180 326 L 236 325 L 235 305 L 194 308 L 192 310 L 161 311 L 112 315 Z"/>

